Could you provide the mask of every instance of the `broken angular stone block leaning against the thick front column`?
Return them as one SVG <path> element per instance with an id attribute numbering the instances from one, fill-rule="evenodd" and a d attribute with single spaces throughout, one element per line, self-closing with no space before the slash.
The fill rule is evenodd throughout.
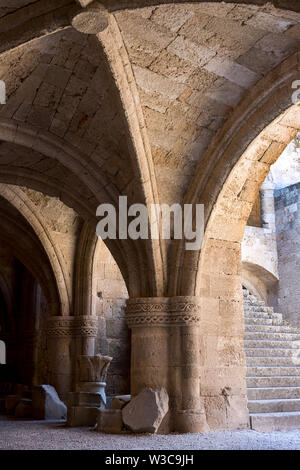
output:
<path id="1" fill-rule="evenodd" d="M 133 432 L 157 432 L 169 409 L 163 387 L 145 388 L 122 409 L 124 424 Z"/>

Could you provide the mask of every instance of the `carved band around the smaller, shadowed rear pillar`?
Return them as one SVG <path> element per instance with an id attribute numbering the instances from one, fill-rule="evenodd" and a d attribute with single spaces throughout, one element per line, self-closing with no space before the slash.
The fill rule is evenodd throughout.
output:
<path id="1" fill-rule="evenodd" d="M 90 337 L 95 338 L 98 320 L 95 317 L 51 317 L 48 319 L 47 336 L 55 337 Z"/>

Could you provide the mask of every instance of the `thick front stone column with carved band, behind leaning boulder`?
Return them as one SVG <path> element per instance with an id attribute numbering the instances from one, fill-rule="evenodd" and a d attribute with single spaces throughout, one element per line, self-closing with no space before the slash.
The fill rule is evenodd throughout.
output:
<path id="1" fill-rule="evenodd" d="M 129 299 L 131 392 L 166 388 L 170 412 L 164 431 L 207 430 L 200 399 L 200 309 L 196 297 Z"/>

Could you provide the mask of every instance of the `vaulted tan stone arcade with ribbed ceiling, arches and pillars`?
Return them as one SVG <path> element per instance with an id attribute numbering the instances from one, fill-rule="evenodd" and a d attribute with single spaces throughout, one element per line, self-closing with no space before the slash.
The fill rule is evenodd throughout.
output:
<path id="1" fill-rule="evenodd" d="M 0 395 L 84 407 L 78 357 L 101 354 L 108 403 L 167 391 L 161 432 L 248 427 L 241 245 L 300 130 L 299 1 L 0 0 L 0 54 Z M 201 250 L 97 238 L 120 196 L 203 204 Z"/>

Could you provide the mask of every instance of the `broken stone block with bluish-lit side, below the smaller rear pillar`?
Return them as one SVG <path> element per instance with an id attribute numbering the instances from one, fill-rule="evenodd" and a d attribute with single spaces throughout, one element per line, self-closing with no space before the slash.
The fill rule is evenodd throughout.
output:
<path id="1" fill-rule="evenodd" d="M 37 419 L 65 419 L 67 407 L 51 385 L 38 385 L 32 389 L 33 416 Z"/>

